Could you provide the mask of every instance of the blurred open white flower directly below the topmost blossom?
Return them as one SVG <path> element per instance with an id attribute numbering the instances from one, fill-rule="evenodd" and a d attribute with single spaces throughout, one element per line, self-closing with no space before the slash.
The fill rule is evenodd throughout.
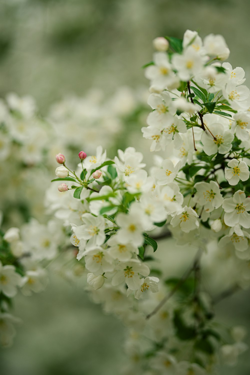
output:
<path id="1" fill-rule="evenodd" d="M 174 54 L 172 64 L 182 81 L 190 80 L 193 75 L 201 71 L 203 66 L 201 55 L 192 46 L 187 47 L 182 55 Z"/>

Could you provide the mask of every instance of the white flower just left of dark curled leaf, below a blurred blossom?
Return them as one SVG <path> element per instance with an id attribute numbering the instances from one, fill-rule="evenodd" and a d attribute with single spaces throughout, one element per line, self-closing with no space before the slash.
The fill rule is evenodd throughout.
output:
<path id="1" fill-rule="evenodd" d="M 135 247 L 133 243 L 120 243 L 118 236 L 111 236 L 107 241 L 110 246 L 109 254 L 113 259 L 118 259 L 119 261 L 127 261 L 132 258 L 133 254 L 138 254 L 138 247 Z"/>

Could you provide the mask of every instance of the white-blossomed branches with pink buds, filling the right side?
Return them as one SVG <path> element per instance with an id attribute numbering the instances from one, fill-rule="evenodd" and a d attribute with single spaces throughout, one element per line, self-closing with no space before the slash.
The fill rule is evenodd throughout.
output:
<path id="1" fill-rule="evenodd" d="M 221 63 L 229 49 L 220 35 L 202 41 L 187 30 L 154 46 L 142 131 L 165 156 L 148 174 L 133 147 L 114 160 L 101 146 L 80 151 L 74 170 L 57 154 L 46 204 L 71 228 L 92 299 L 129 327 L 123 373 L 214 374 L 221 358 L 234 365 L 246 350 L 244 328 L 218 325 L 213 307 L 249 286 L 250 91 L 242 68 Z M 157 240 L 169 236 L 196 252 L 181 277 L 164 276 L 167 249 L 161 265 L 154 260 Z M 211 296 L 202 275 L 212 270 L 212 283 L 225 267 L 232 284 L 220 279 L 222 293 Z"/>

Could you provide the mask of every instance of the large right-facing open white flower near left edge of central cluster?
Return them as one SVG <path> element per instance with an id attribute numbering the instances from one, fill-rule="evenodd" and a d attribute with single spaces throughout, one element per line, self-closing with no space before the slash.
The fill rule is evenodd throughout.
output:
<path id="1" fill-rule="evenodd" d="M 82 221 L 83 225 L 73 227 L 72 230 L 79 240 L 88 240 L 86 249 L 102 245 L 106 238 L 104 217 L 95 217 L 91 213 L 84 213 Z"/>

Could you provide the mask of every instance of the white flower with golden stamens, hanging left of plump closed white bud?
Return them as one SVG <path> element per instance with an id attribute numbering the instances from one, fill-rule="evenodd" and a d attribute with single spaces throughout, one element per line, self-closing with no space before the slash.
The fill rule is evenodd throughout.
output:
<path id="1" fill-rule="evenodd" d="M 199 227 L 199 222 L 197 220 L 198 214 L 191 207 L 185 206 L 181 213 L 173 217 L 170 224 L 175 227 L 180 226 L 183 232 L 189 233 L 193 229 Z"/>

